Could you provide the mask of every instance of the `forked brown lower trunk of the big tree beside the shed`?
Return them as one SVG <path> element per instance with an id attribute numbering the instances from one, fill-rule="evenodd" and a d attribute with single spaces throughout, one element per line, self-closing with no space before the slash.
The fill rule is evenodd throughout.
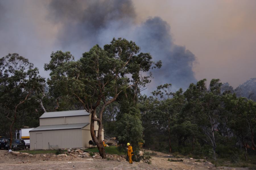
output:
<path id="1" fill-rule="evenodd" d="M 91 132 L 91 136 L 92 136 L 92 140 L 94 141 L 94 143 L 97 145 L 97 148 L 100 152 L 100 156 L 103 159 L 106 159 L 106 153 L 105 153 L 105 148 L 101 139 L 101 131 L 102 131 L 102 124 L 99 124 L 99 129 L 98 132 L 100 131 L 100 135 L 98 133 L 98 137 L 96 137 L 96 134 L 94 133 L 94 117 L 95 117 L 95 110 L 93 110 L 91 112 L 91 124 L 90 124 L 90 132 Z M 101 126 L 100 126 L 101 125 Z M 101 128 L 100 128 L 101 127 Z"/>

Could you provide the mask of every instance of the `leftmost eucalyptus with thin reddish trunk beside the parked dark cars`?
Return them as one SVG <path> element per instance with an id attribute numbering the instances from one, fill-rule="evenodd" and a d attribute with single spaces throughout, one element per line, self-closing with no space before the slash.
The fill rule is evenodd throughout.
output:
<path id="1" fill-rule="evenodd" d="M 16 118 L 25 109 L 22 105 L 45 82 L 38 74 L 38 68 L 17 53 L 0 59 L 0 105 L 2 114 L 10 122 L 10 143 Z"/>

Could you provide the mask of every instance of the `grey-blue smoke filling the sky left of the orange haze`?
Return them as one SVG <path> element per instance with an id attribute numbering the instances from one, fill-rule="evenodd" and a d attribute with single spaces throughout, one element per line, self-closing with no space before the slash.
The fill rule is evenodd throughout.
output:
<path id="1" fill-rule="evenodd" d="M 123 37 L 163 62 L 161 69 L 153 70 L 147 93 L 160 84 L 172 83 L 177 90 L 197 81 L 192 70 L 195 55 L 174 43 L 170 25 L 161 18 L 137 22 L 131 0 L 0 0 L 0 9 L 1 57 L 17 52 L 39 67 L 42 76 L 48 76 L 43 65 L 51 51 L 71 51 L 79 59 L 95 44 Z M 57 35 L 51 36 L 54 29 Z"/>

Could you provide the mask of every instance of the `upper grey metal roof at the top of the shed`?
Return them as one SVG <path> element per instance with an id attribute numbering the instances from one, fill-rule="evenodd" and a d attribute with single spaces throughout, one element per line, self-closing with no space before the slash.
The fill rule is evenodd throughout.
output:
<path id="1" fill-rule="evenodd" d="M 64 117 L 64 116 L 83 116 L 89 115 L 86 110 L 77 111 L 61 111 L 61 112 L 45 112 L 40 118 L 54 118 L 54 117 Z"/>

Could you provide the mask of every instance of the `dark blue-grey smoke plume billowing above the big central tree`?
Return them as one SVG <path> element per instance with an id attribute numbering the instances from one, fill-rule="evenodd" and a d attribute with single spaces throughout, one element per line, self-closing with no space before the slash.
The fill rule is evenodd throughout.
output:
<path id="1" fill-rule="evenodd" d="M 142 52 L 150 52 L 154 61 L 162 60 L 162 68 L 153 71 L 149 91 L 165 83 L 172 83 L 174 90 L 187 88 L 191 82 L 197 81 L 192 70 L 195 55 L 184 46 L 174 44 L 170 25 L 160 17 L 136 23 L 135 9 L 130 0 L 53 0 L 50 9 L 51 20 L 63 24 L 59 34 L 63 46 L 73 48 L 74 43 L 76 46 L 86 44 L 87 48 L 95 44 L 103 46 L 113 37 L 124 37 L 135 41 Z"/>

